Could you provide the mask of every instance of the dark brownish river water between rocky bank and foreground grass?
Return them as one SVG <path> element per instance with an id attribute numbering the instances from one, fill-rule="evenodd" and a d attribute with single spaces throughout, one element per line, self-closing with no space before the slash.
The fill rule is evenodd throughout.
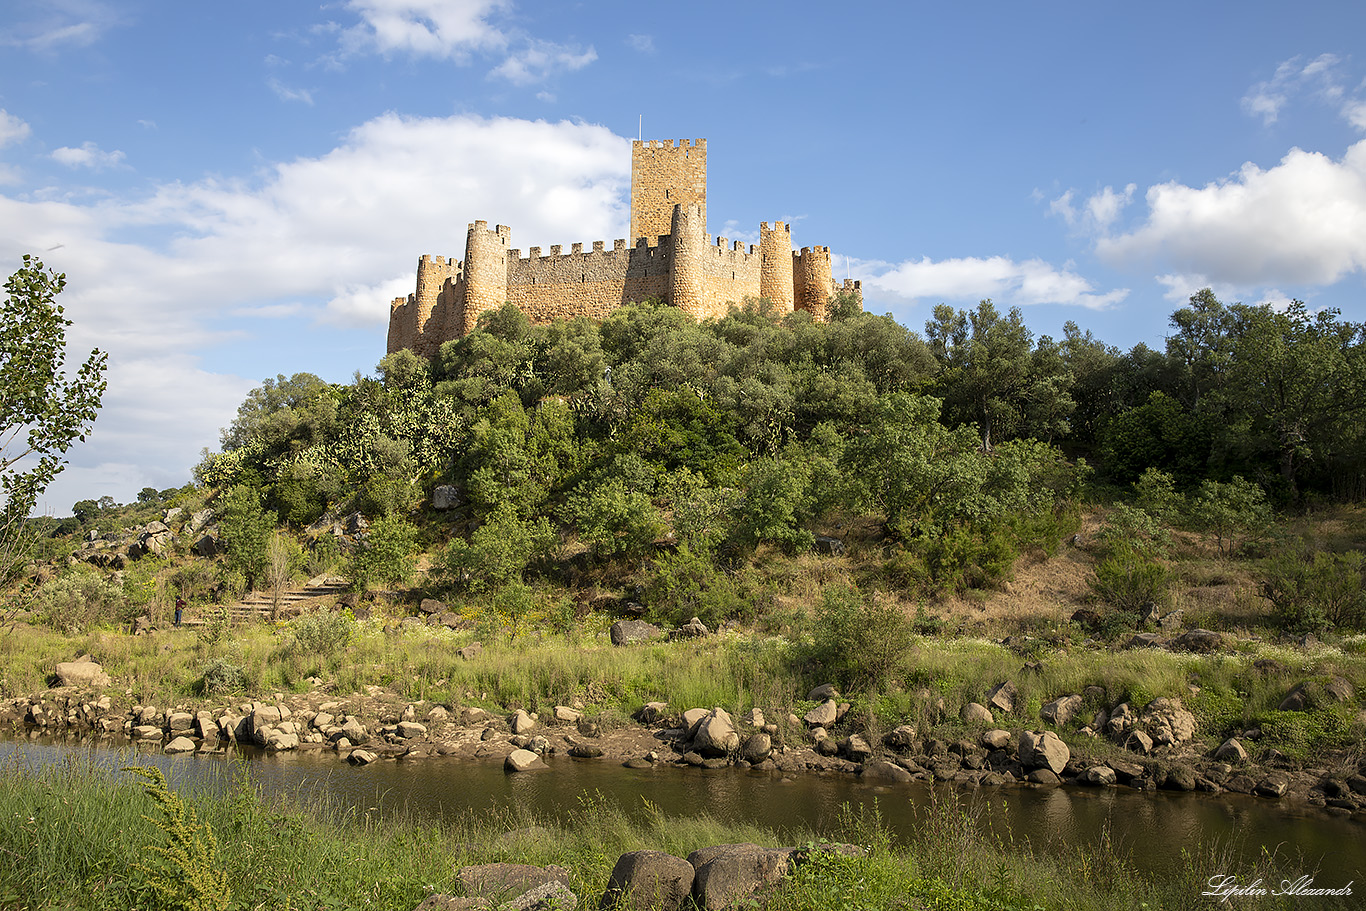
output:
<path id="1" fill-rule="evenodd" d="M 630 814 L 708 814 L 729 822 L 773 829 L 831 830 L 843 804 L 876 800 L 897 840 L 917 837 L 934 796 L 959 798 L 978 824 L 1001 839 L 1029 841 L 1035 850 L 1098 847 L 1115 850 L 1139 869 L 1180 869 L 1183 854 L 1202 874 L 1221 865 L 1250 866 L 1265 851 L 1280 858 L 1277 875 L 1315 875 L 1320 885 L 1354 880 L 1366 892 L 1366 825 L 1309 806 L 1236 794 L 1146 792 L 1127 788 L 1008 787 L 975 792 L 943 785 L 870 787 L 851 776 L 788 776 L 664 766 L 631 770 L 602 761 L 550 759 L 549 772 L 505 774 L 500 762 L 430 758 L 351 768 L 332 753 L 238 750 L 228 755 L 178 757 L 154 748 L 92 742 L 3 740 L 0 761 L 45 765 L 93 762 L 116 770 L 137 762 L 164 769 L 182 788 L 225 788 L 234 768 L 245 769 L 265 794 L 290 794 L 301 803 L 325 800 L 361 814 L 407 813 L 454 819 L 466 813 L 499 818 L 567 818 L 583 800 L 604 800 Z M 3 787 L 3 784 L 0 784 Z M 1223 860 L 1212 858 L 1223 858 Z M 1229 870 L 1232 873 L 1232 870 Z M 1306 899 L 1309 900 L 1309 899 Z"/>

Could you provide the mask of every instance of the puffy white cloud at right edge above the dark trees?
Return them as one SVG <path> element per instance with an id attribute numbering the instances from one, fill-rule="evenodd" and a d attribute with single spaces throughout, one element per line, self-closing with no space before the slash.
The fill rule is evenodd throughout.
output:
<path id="1" fill-rule="evenodd" d="M 1097 242 L 1102 260 L 1235 285 L 1322 285 L 1366 269 L 1366 141 L 1340 161 L 1291 149 L 1203 187 L 1157 184 L 1146 201 L 1141 225 Z"/>

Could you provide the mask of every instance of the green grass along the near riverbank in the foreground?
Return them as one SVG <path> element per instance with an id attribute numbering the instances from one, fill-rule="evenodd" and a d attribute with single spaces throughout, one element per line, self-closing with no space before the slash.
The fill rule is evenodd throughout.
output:
<path id="1" fill-rule="evenodd" d="M 149 856 L 165 840 L 157 802 L 134 776 L 112 776 L 81 762 L 3 770 L 0 791 L 0 906 L 19 911 L 89 911 L 150 904 Z M 1183 871 L 1145 877 L 1105 837 L 1074 851 L 1037 851 L 984 835 L 974 813 L 955 800 L 930 804 L 918 837 L 893 845 L 874 809 L 846 807 L 831 832 L 770 830 L 721 824 L 706 815 L 657 810 L 628 815 L 586 798 L 566 818 L 466 815 L 433 824 L 376 818 L 337 806 L 268 799 L 238 777 L 221 792 L 178 795 L 198 835 L 217 841 L 212 873 L 231 908 L 410 911 L 430 892 L 458 893 L 462 865 L 496 860 L 556 863 L 571 871 L 581 904 L 596 903 L 616 858 L 650 848 L 676 856 L 712 844 L 754 841 L 800 845 L 822 837 L 861 844 L 862 858 L 826 856 L 790 877 L 770 896 L 780 911 L 836 908 L 1108 911 L 1190 907 L 1206 870 L 1251 881 L 1265 870 L 1236 870 L 1227 858 L 1190 858 Z M 111 839 L 111 832 L 120 837 Z M 1294 907 L 1268 899 L 1259 908 Z M 1315 907 L 1346 907 L 1315 900 Z"/>

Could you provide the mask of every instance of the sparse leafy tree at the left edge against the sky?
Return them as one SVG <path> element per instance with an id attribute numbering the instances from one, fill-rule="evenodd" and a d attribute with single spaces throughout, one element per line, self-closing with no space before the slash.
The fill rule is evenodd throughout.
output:
<path id="1" fill-rule="evenodd" d="M 66 466 L 64 453 L 85 440 L 104 396 L 105 355 L 93 350 L 66 373 L 67 328 L 56 298 L 64 275 L 23 257 L 4 284 L 0 309 L 0 586 L 22 572 L 33 539 L 29 514 Z"/>

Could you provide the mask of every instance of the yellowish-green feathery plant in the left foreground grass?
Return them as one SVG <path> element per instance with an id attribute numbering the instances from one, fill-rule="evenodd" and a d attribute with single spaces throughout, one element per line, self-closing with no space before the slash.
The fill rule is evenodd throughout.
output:
<path id="1" fill-rule="evenodd" d="M 133 867 L 142 877 L 141 891 L 168 911 L 227 911 L 232 892 L 227 874 L 217 867 L 213 829 L 201 824 L 180 795 L 167 787 L 161 769 L 128 766 L 124 772 L 146 779 L 143 791 L 156 803 L 160 818 L 143 818 L 165 837 L 165 844 L 149 845 L 156 856 L 153 863 Z"/>

